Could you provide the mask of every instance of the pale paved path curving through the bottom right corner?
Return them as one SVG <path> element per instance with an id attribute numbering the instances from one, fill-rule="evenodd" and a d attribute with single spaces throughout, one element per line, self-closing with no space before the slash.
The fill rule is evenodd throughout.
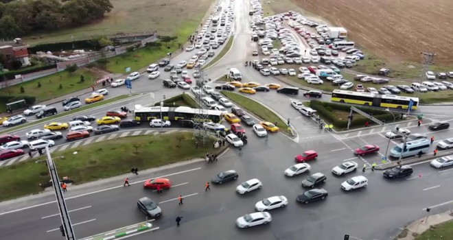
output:
<path id="1" fill-rule="evenodd" d="M 417 235 L 421 235 L 421 233 L 430 230 L 432 226 L 451 220 L 453 220 L 453 210 L 447 211 L 445 213 L 430 215 L 429 217 L 427 215 L 426 217 L 413 221 L 408 226 L 406 226 L 406 228 L 404 228 L 404 230 L 402 231 L 402 234 L 400 234 L 400 236 L 404 236 L 407 232 L 407 235 L 405 237 L 397 237 L 395 239 L 414 240 Z"/>

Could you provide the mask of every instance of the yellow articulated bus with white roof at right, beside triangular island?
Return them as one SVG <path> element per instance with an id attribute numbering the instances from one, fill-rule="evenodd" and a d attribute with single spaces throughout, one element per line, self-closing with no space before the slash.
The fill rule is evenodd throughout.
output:
<path id="1" fill-rule="evenodd" d="M 335 89 L 332 92 L 332 101 L 381 108 L 408 109 L 410 99 L 413 100 L 412 110 L 416 110 L 419 104 L 418 97 L 402 97 L 396 95 L 380 95 L 374 93 L 359 93 Z"/>

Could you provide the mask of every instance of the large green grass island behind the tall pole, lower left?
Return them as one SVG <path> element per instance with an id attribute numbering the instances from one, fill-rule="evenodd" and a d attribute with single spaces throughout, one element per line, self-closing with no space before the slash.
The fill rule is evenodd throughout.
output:
<path id="1" fill-rule="evenodd" d="M 192 132 L 130 136 L 54 152 L 53 155 L 60 178 L 68 176 L 75 184 L 81 184 L 128 173 L 131 167 L 140 171 L 220 151 L 213 151 L 211 143 L 214 139 L 196 148 L 192 136 Z M 43 191 L 39 184 L 49 179 L 45 163 L 24 161 L 3 167 L 0 169 L 0 200 L 39 193 Z"/>

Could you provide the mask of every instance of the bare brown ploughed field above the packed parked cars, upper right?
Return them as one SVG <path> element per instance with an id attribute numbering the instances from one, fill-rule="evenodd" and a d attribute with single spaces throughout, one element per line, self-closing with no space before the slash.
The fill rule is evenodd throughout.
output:
<path id="1" fill-rule="evenodd" d="M 452 0 L 292 1 L 389 62 L 421 62 L 421 51 L 436 53 L 436 64 L 452 62 Z"/>

